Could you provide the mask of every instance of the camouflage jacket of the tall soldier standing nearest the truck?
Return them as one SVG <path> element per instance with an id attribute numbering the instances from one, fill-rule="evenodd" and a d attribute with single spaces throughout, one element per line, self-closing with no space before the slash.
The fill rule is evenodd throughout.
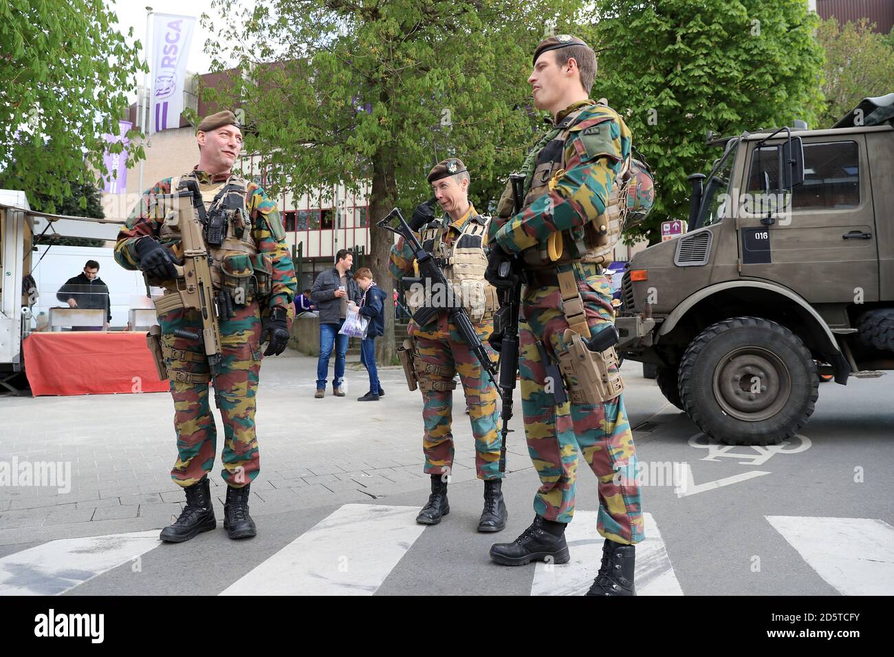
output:
<path id="1" fill-rule="evenodd" d="M 611 184 L 630 154 L 631 135 L 618 114 L 592 100 L 570 105 L 558 114 L 556 122 L 581 105 L 586 108 L 565 141 L 565 173 L 555 189 L 508 220 L 493 217 L 490 239 L 510 253 L 544 244 L 552 232 L 583 226 L 605 211 Z M 607 139 L 592 139 L 584 134 L 597 123 L 608 126 Z M 541 139 L 536 151 L 547 140 Z"/>

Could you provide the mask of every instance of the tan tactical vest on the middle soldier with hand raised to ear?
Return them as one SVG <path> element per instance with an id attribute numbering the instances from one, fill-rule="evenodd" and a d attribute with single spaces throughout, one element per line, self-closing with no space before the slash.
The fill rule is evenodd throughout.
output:
<path id="1" fill-rule="evenodd" d="M 485 281 L 487 256 L 485 236 L 490 217 L 474 215 L 468 218 L 460 234 L 451 242 L 444 240 L 449 229 L 441 222 L 428 223 L 420 234 L 422 248 L 432 254 L 444 277 L 451 282 L 453 299 L 466 308 L 469 319 L 480 323 L 493 316 L 498 307 L 496 288 Z M 435 291 L 437 293 L 437 291 Z M 411 313 L 426 305 L 421 294 L 409 293 L 407 306 Z"/>

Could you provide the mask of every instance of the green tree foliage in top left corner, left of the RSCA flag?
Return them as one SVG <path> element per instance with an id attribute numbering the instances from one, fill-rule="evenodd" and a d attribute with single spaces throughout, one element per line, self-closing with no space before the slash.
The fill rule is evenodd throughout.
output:
<path id="1" fill-rule="evenodd" d="M 85 208 L 72 186 L 103 171 L 102 135 L 118 133 L 144 70 L 139 42 L 127 46 L 114 22 L 102 0 L 0 2 L 0 188 L 25 190 L 37 209 L 72 197 Z"/>

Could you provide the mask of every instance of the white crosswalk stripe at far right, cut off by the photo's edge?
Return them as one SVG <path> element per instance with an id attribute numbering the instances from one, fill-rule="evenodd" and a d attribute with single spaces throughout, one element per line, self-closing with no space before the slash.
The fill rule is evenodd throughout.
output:
<path id="1" fill-rule="evenodd" d="M 894 590 L 894 527 L 873 518 L 766 516 L 829 585 L 842 595 Z"/>

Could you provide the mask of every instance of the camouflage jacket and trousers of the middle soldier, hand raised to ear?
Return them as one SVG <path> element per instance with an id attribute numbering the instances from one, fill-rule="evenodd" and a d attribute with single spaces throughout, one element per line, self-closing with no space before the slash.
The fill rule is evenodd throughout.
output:
<path id="1" fill-rule="evenodd" d="M 465 215 L 448 225 L 445 235 L 458 235 L 469 219 L 476 215 L 475 208 L 470 205 Z M 409 244 L 404 244 L 402 238 L 391 249 L 389 269 L 397 280 L 413 271 L 413 251 Z M 485 342 L 485 349 L 495 361 L 496 354 L 486 342 L 493 332 L 493 318 L 474 325 L 478 337 Z M 484 480 L 502 478 L 499 468 L 500 439 L 497 434 L 497 421 L 500 417 L 497 409 L 498 395 L 477 358 L 463 341 L 456 326 L 448 321 L 446 311 L 437 316 L 436 324 L 433 322 L 426 327 L 417 326 L 410 321 L 408 333 L 416 339 L 418 354 L 423 363 L 434 370 L 430 374 L 432 380 L 452 385 L 455 373 L 459 373 L 466 395 L 472 434 L 475 436 L 477 476 Z M 451 434 L 452 389 L 431 390 L 422 394 L 425 400 L 422 411 L 425 425 L 425 471 L 429 475 L 449 473 L 453 467 L 454 452 Z"/>

